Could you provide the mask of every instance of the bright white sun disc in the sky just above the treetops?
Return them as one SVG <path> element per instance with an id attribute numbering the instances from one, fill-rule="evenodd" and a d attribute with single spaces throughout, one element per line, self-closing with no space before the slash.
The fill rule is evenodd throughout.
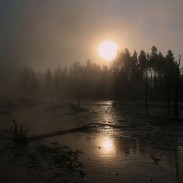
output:
<path id="1" fill-rule="evenodd" d="M 117 54 L 118 45 L 113 41 L 104 41 L 98 47 L 98 53 L 104 60 L 113 60 Z"/>

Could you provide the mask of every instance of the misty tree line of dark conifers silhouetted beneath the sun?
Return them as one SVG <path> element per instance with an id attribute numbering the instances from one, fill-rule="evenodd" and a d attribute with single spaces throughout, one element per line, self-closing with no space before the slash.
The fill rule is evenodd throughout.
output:
<path id="1" fill-rule="evenodd" d="M 26 67 L 21 73 L 18 90 L 25 97 L 73 97 L 116 100 L 166 101 L 183 100 L 181 57 L 171 50 L 164 56 L 153 46 L 150 53 L 141 50 L 118 52 L 109 65 L 74 62 L 70 67 L 36 73 Z"/>

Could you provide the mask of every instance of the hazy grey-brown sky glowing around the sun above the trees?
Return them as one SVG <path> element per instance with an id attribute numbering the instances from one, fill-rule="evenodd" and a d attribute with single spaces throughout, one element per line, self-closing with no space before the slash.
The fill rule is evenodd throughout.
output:
<path id="1" fill-rule="evenodd" d="M 183 0 L 0 0 L 0 62 L 39 69 L 90 59 L 105 39 L 183 57 Z"/>

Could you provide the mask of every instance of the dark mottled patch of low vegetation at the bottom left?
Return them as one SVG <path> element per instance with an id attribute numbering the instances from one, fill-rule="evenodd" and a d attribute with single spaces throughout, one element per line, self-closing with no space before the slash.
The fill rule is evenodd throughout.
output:
<path id="1" fill-rule="evenodd" d="M 84 179 L 84 164 L 79 150 L 71 150 L 56 142 L 29 144 L 26 147 L 4 147 L 12 165 L 26 168 L 40 182 L 72 182 Z M 45 174 L 46 172 L 46 174 Z M 48 173 L 49 172 L 49 173 Z M 43 175 L 43 176 L 40 176 Z"/>

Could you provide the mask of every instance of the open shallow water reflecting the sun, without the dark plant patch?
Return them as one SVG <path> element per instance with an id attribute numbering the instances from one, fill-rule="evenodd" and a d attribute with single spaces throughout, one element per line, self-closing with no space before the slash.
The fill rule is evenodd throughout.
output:
<path id="1" fill-rule="evenodd" d="M 27 128 L 31 136 L 92 124 L 87 130 L 31 142 L 39 146 L 57 143 L 82 151 L 78 157 L 83 163 L 80 177 L 71 179 L 64 174 L 50 182 L 183 182 L 183 125 L 156 118 L 164 114 L 163 108 L 152 108 L 151 112 L 153 117 L 144 117 L 142 106 L 113 101 L 83 102 L 81 109 L 70 102 L 17 103 L 9 113 L 1 114 L 1 129 L 11 125 L 10 118 Z M 46 159 L 41 161 L 44 164 Z M 8 166 L 6 161 L 4 164 Z M 18 171 L 25 171 L 23 168 Z M 30 174 L 36 171 L 39 168 Z"/>

